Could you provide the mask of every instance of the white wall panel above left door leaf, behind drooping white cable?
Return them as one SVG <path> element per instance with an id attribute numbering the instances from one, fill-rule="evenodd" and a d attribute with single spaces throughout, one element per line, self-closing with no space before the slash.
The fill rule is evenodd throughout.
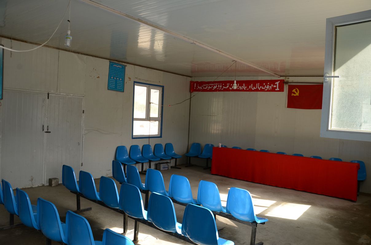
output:
<path id="1" fill-rule="evenodd" d="M 17 41 L 11 43 L 6 38 L 1 38 L 1 43 L 15 50 L 36 47 Z M 58 53 L 56 49 L 45 47 L 31 52 L 4 50 L 4 88 L 56 92 Z"/>

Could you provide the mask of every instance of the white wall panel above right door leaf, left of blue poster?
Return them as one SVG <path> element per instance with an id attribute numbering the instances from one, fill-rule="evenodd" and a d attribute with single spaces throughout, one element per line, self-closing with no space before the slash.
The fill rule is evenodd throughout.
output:
<path id="1" fill-rule="evenodd" d="M 59 51 L 58 93 L 85 94 L 87 56 Z"/>

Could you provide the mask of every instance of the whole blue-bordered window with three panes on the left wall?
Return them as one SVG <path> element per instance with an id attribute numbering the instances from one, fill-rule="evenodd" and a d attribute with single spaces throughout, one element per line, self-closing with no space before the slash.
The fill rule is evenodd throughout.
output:
<path id="1" fill-rule="evenodd" d="M 162 137 L 164 86 L 134 82 L 132 138 Z"/>

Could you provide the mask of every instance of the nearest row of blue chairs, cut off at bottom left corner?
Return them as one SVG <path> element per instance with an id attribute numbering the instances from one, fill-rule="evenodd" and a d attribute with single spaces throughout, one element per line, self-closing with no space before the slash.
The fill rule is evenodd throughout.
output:
<path id="1" fill-rule="evenodd" d="M 121 234 L 105 229 L 102 241 L 94 241 L 89 222 L 81 215 L 72 211 L 66 213 L 66 223 L 60 221 L 57 208 L 52 202 L 43 198 L 37 199 L 37 206 L 32 205 L 28 194 L 16 188 L 14 197 L 12 186 L 2 179 L 3 190 L 0 187 L 0 203 L 13 215 L 19 216 L 22 223 L 30 228 L 40 230 L 51 241 L 67 245 L 134 245 L 134 243 Z"/>

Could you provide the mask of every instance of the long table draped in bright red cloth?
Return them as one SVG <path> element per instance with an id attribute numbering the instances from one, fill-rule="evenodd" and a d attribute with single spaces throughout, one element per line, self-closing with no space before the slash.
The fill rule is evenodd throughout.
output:
<path id="1" fill-rule="evenodd" d="M 211 174 L 357 201 L 358 163 L 214 147 Z"/>

